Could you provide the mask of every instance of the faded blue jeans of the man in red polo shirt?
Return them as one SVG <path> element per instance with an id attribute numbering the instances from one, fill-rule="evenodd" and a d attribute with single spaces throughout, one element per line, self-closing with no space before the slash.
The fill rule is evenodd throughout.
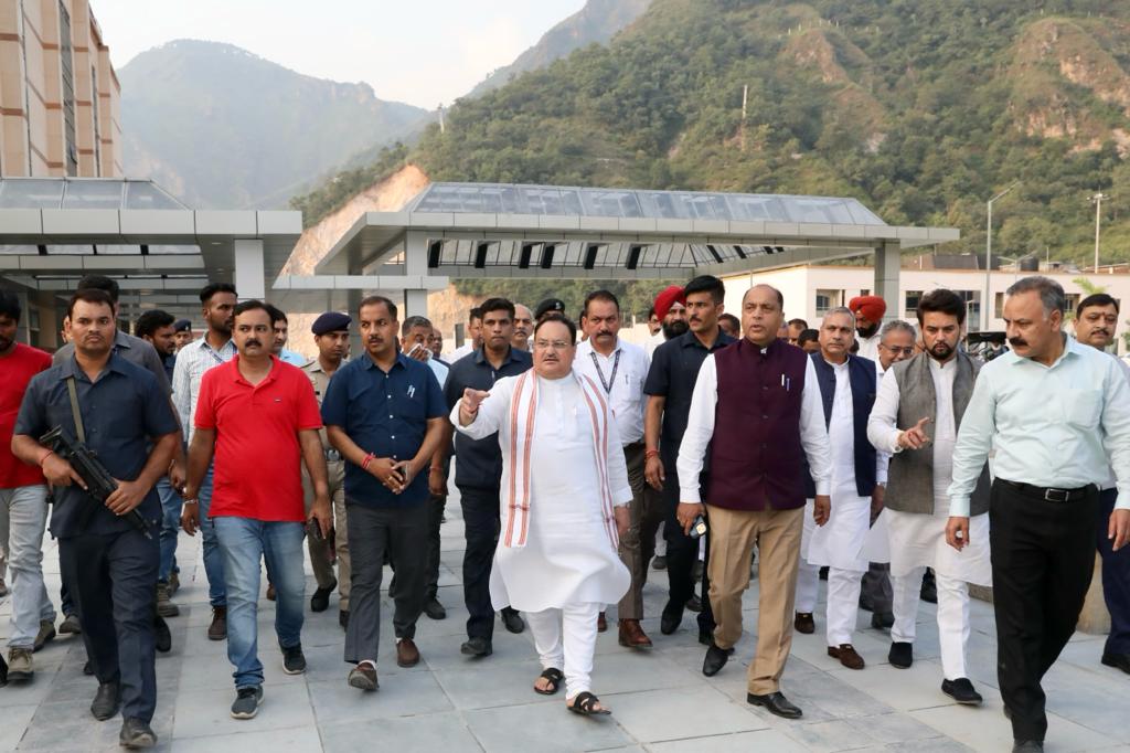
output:
<path id="1" fill-rule="evenodd" d="M 227 586 L 227 658 L 235 665 L 236 687 L 261 685 L 258 614 L 260 562 L 267 561 L 278 595 L 275 603 L 275 633 L 279 646 L 302 642 L 303 601 L 306 578 L 302 570 L 301 522 L 264 522 L 223 516 L 214 521 L 224 559 Z"/>

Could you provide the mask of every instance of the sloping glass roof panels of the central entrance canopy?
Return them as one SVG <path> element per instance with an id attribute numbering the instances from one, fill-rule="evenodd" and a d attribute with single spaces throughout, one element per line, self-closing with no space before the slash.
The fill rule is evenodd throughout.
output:
<path id="1" fill-rule="evenodd" d="M 407 209 L 434 213 L 886 225 L 875 213 L 850 198 L 508 183 L 432 183 Z"/>

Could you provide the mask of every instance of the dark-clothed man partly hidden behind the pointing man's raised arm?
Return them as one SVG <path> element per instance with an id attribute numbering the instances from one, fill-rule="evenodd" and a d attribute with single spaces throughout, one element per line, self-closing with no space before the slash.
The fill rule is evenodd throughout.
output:
<path id="1" fill-rule="evenodd" d="M 546 305 L 544 301 L 540 309 Z M 545 313 L 545 312 L 540 312 Z M 467 389 L 489 391 L 503 376 L 516 376 L 530 369 L 529 353 L 511 345 L 514 304 L 506 298 L 489 298 L 480 308 L 483 348 L 472 357 L 451 366 L 444 397 L 452 409 Z M 442 447 L 451 447 L 453 429 L 447 427 Z M 455 438 L 455 486 L 463 508 L 463 600 L 467 604 L 467 640 L 460 647 L 466 656 L 486 657 L 494 652 L 495 612 L 490 605 L 490 563 L 501 527 L 502 450 L 496 435 Z M 436 479 L 437 482 L 440 479 Z M 512 633 L 525 630 L 525 623 L 510 606 L 502 611 L 503 625 Z"/>

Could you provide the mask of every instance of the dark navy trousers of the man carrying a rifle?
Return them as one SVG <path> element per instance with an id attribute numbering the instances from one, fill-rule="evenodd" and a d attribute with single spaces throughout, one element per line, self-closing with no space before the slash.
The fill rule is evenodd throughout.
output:
<path id="1" fill-rule="evenodd" d="M 122 718 L 149 722 L 157 706 L 154 600 L 160 548 L 130 529 L 59 539 L 59 562 L 99 683 L 119 683 Z"/>

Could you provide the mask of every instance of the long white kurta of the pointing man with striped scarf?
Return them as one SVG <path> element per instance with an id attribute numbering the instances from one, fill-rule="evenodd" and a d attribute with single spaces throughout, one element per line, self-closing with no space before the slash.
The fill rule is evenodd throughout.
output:
<path id="1" fill-rule="evenodd" d="M 616 604 L 632 577 L 609 540 L 593 453 L 592 419 L 576 379 L 538 379 L 530 453 L 529 538 L 522 547 L 499 542 L 490 570 L 490 600 L 541 612 L 582 603 Z M 516 378 L 495 383 L 478 418 L 459 427 L 479 439 L 499 432 L 503 479 L 510 477 L 506 425 Z M 452 423 L 459 426 L 459 406 Z M 609 422 L 608 481 L 616 505 L 632 500 L 627 467 L 615 422 Z M 503 504 L 505 504 L 505 500 Z M 503 519 L 506 511 L 503 510 Z"/>

